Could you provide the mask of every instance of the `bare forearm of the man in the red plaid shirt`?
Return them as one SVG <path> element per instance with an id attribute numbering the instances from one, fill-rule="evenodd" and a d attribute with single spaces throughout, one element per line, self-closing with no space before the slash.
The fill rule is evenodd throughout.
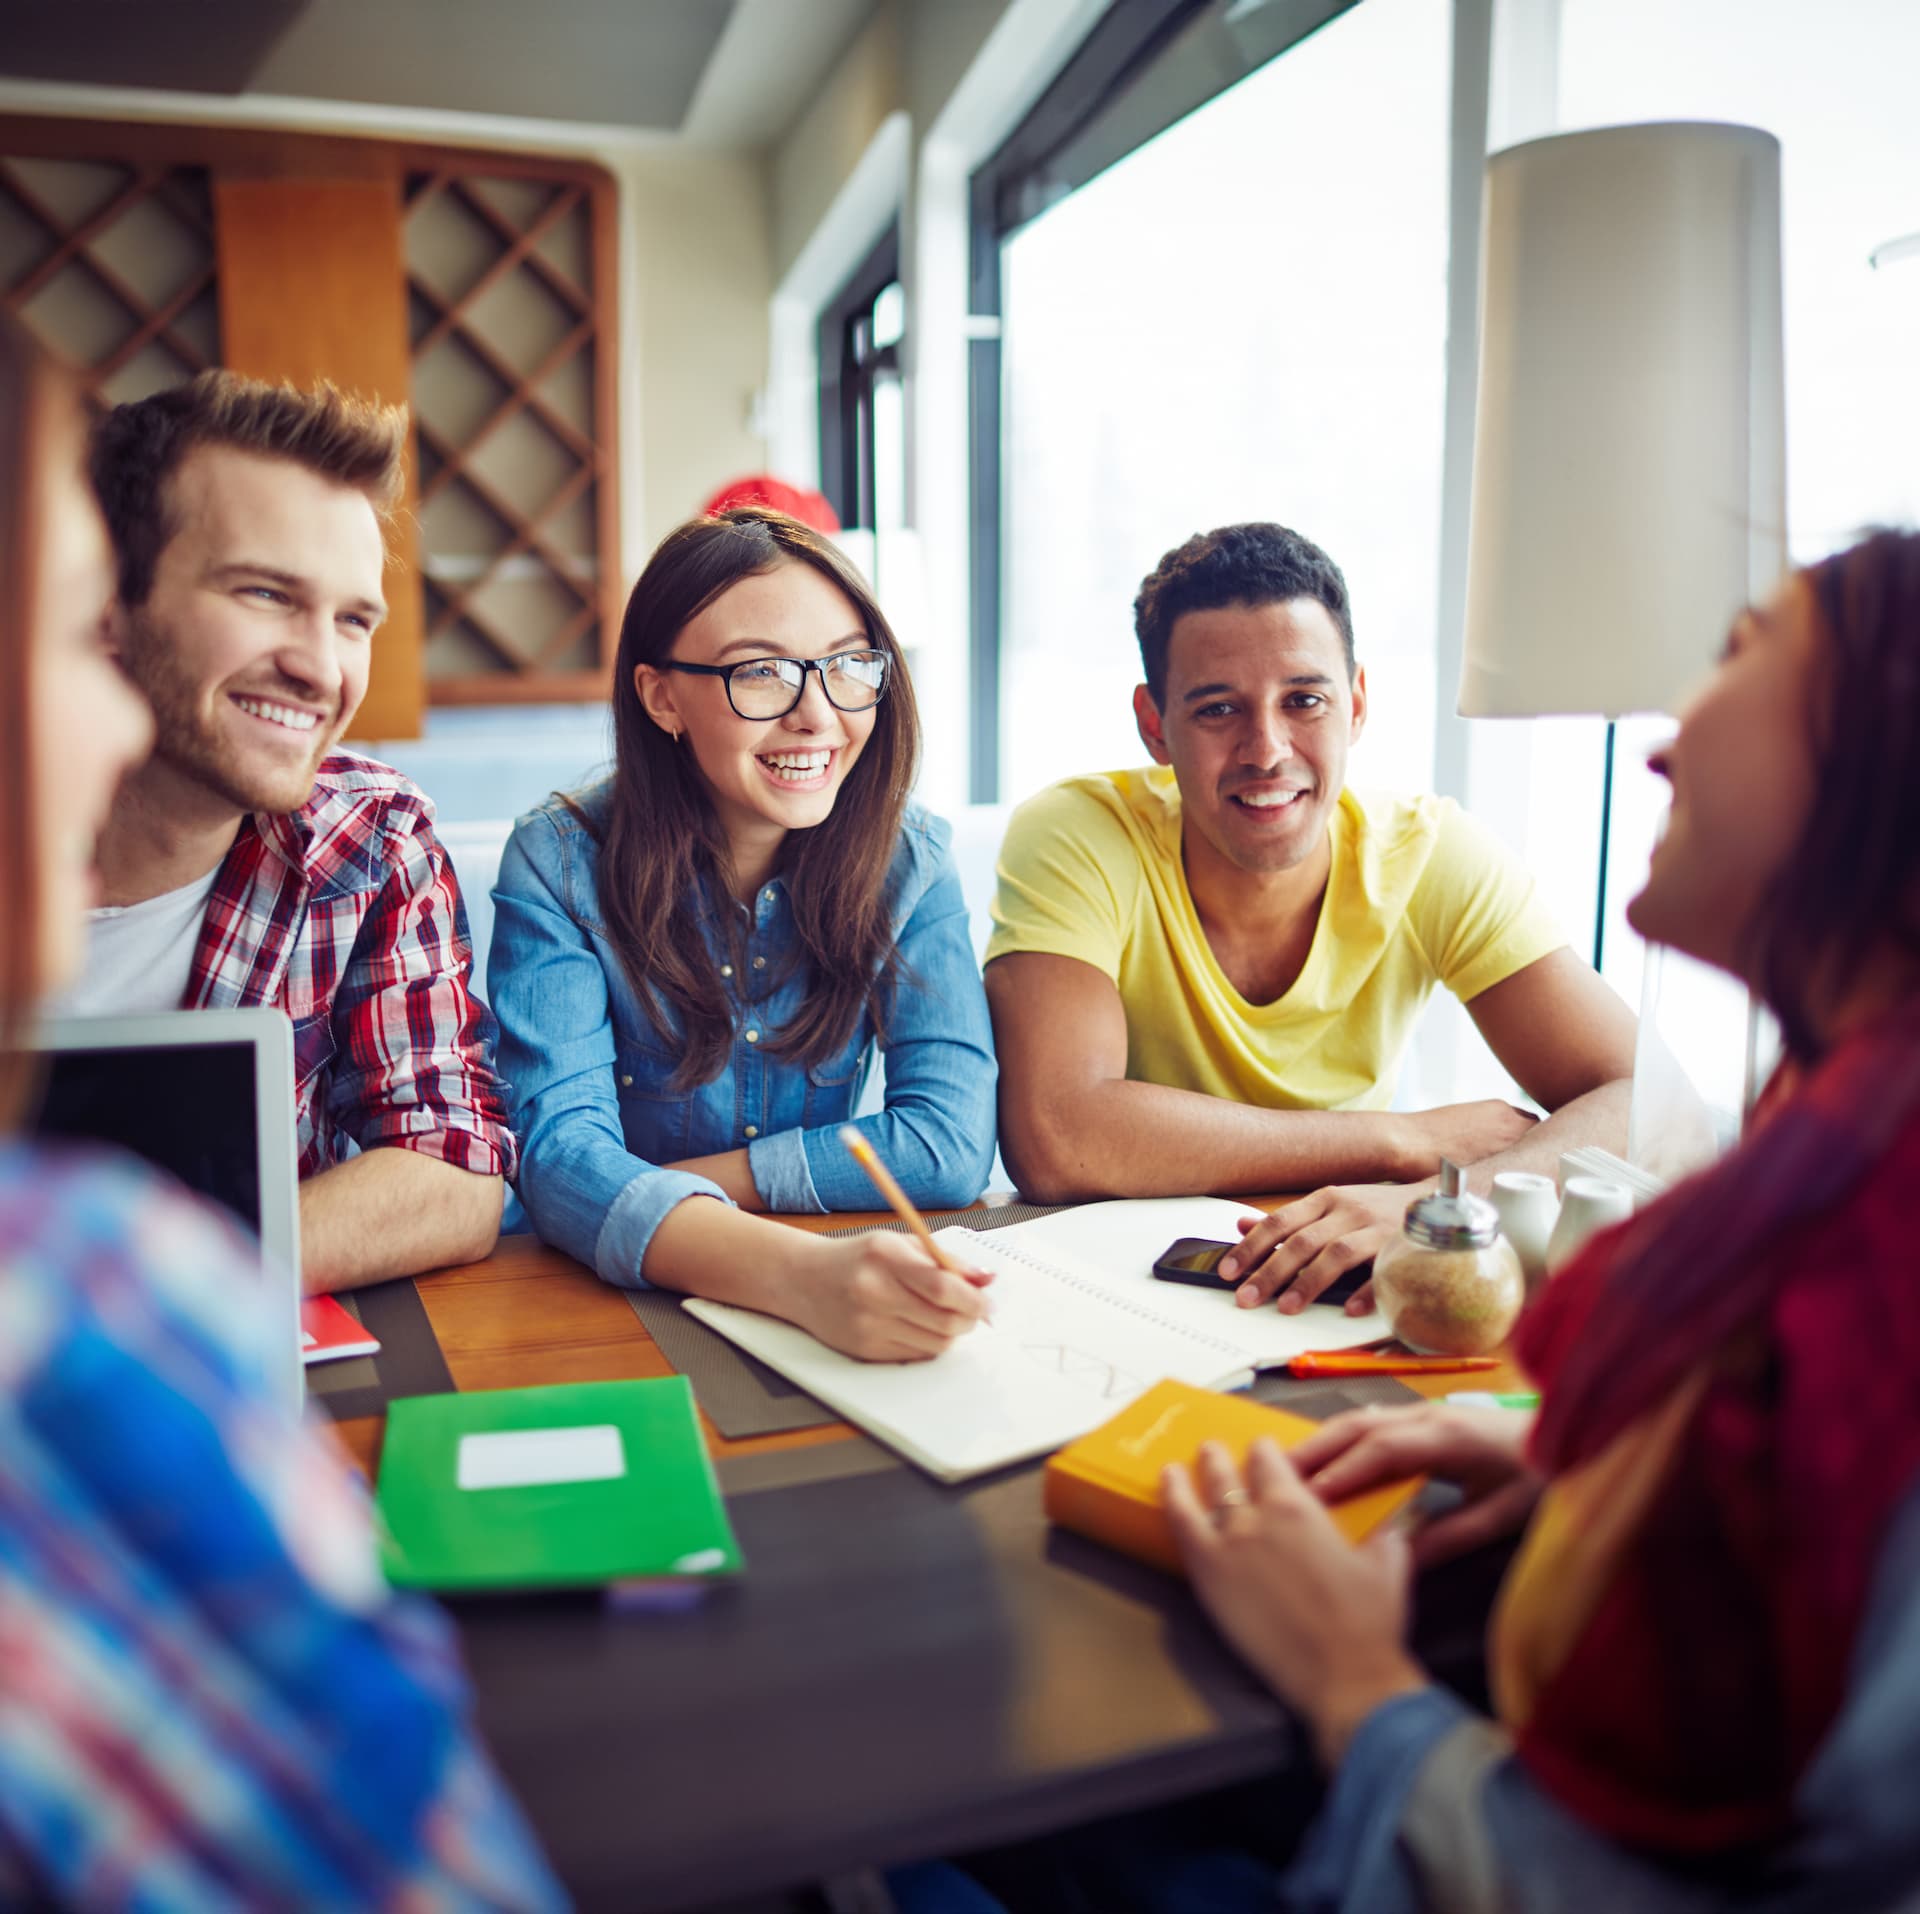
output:
<path id="1" fill-rule="evenodd" d="M 501 1177 L 397 1146 L 323 1169 L 300 1186 L 307 1294 L 478 1261 L 499 1240 L 503 1202 Z"/>

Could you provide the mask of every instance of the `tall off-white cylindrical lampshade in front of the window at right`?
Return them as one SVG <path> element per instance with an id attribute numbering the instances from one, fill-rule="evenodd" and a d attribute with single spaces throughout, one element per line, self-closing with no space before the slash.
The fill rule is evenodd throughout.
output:
<path id="1" fill-rule="evenodd" d="M 1461 714 L 1674 710 L 1786 566 L 1780 142 L 1513 146 L 1484 257 Z"/>

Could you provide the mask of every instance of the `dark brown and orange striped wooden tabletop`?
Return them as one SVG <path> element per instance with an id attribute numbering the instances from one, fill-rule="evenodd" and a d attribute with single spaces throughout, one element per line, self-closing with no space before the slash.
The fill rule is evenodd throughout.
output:
<path id="1" fill-rule="evenodd" d="M 419 1290 L 463 1390 L 670 1373 L 620 1292 L 526 1236 Z M 378 1419 L 338 1426 L 371 1471 Z M 851 1436 L 708 1428 L 718 1457 Z M 747 1574 L 687 1613 L 457 1605 L 482 1732 L 586 1908 L 958 1853 L 1300 1757 L 1181 1584 L 1048 1530 L 1037 1467 L 943 1488 L 902 1465 L 730 1513 Z"/>

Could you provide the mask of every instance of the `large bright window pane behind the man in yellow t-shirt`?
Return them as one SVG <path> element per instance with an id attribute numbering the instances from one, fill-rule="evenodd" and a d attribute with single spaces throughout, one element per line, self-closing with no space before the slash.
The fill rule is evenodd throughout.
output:
<path id="1" fill-rule="evenodd" d="M 1002 240 L 1000 797 L 1142 760 L 1133 595 L 1248 518 L 1346 570 L 1354 776 L 1428 781 L 1448 31 L 1363 0 Z"/>

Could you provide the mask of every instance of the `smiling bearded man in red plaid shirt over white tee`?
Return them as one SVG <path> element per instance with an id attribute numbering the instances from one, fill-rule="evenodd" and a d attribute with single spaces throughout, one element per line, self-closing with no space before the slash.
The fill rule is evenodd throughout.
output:
<path id="1" fill-rule="evenodd" d="M 205 372 L 92 447 L 154 756 L 100 841 L 71 1014 L 294 1021 L 311 1290 L 486 1256 L 513 1173 L 493 1019 L 432 806 L 340 751 L 386 616 L 405 413 Z"/>

